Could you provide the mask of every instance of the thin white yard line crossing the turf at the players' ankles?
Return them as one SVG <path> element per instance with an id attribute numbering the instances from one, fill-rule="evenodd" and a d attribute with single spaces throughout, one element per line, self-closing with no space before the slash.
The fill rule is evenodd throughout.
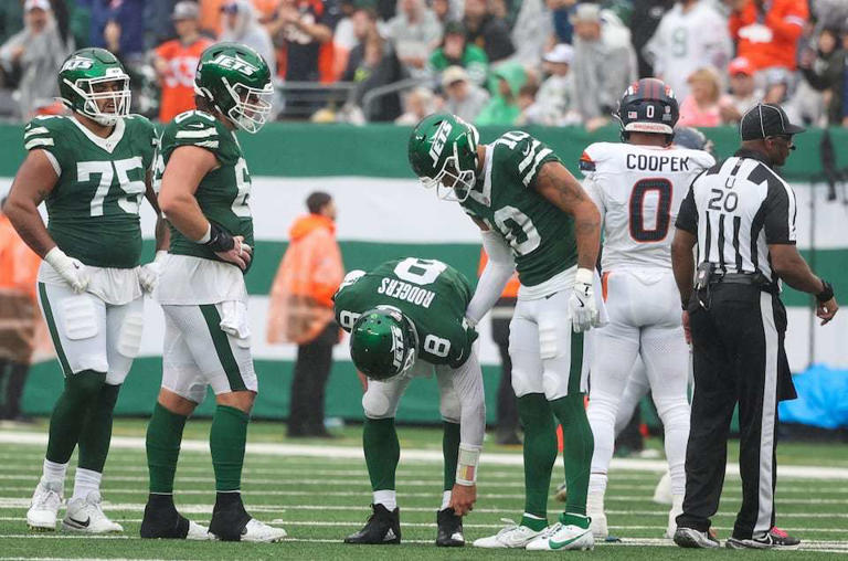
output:
<path id="1" fill-rule="evenodd" d="M 147 494 L 147 491 L 145 491 Z M 212 495 L 210 493 L 210 495 Z M 348 511 L 348 512 L 367 512 L 368 507 L 367 506 L 356 506 L 356 505 L 250 505 L 250 496 L 248 497 L 248 508 L 251 511 L 255 512 L 292 512 L 297 510 L 338 510 L 338 511 Z M 20 498 L 20 499 L 3 499 L 0 498 L 0 510 L 11 510 L 11 509 L 21 509 L 21 508 L 28 508 L 30 506 L 30 499 Z M 103 507 L 106 511 L 112 512 L 118 512 L 118 511 L 128 511 L 128 512 L 144 512 L 145 505 L 140 502 L 116 502 L 110 504 L 108 501 L 104 501 Z M 407 512 L 434 512 L 436 510 L 436 507 L 403 507 L 404 511 Z M 212 514 L 212 504 L 189 504 L 189 505 L 180 505 L 179 510 L 183 514 Z M 502 515 L 504 509 L 502 508 L 475 508 L 475 512 L 477 514 L 489 514 L 489 515 Z M 654 517 L 668 517 L 668 510 L 665 508 L 657 508 L 657 510 L 616 510 L 616 509 L 608 509 L 606 511 L 607 515 L 622 515 L 622 516 L 654 516 Z M 735 517 L 736 512 L 718 512 L 716 516 L 728 516 L 728 517 Z M 845 512 L 781 512 L 781 518 L 801 518 L 801 519 L 807 519 L 807 518 L 814 518 L 814 519 L 828 519 L 828 518 L 848 518 L 848 514 Z M 360 522 L 361 523 L 361 522 Z"/>

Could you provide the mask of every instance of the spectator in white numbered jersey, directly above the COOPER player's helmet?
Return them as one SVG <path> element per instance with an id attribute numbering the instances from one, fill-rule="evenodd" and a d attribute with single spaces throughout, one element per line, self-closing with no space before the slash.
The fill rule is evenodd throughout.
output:
<path id="1" fill-rule="evenodd" d="M 689 95 L 687 77 L 698 68 L 724 68 L 733 52 L 728 21 L 708 0 L 680 0 L 662 17 L 645 45 L 654 74 L 678 99 Z"/>

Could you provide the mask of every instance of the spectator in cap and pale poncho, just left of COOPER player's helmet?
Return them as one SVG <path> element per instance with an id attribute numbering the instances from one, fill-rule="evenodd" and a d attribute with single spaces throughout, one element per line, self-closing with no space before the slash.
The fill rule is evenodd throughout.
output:
<path id="1" fill-rule="evenodd" d="M 604 33 L 597 4 L 580 3 L 572 17 L 574 60 L 571 72 L 579 87 L 575 109 L 589 130 L 610 121 L 622 92 L 636 80 L 636 53 L 619 30 Z M 624 32 L 627 30 L 624 29 Z"/>

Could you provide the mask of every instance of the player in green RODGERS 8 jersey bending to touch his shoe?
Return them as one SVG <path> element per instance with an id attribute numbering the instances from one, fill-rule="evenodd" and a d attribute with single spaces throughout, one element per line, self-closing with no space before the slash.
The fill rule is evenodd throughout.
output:
<path id="1" fill-rule="evenodd" d="M 468 280 L 459 272 L 415 257 L 389 261 L 370 273 L 348 273 L 336 293 L 336 320 L 350 331 L 353 363 L 369 378 L 362 445 L 373 514 L 346 543 L 401 542 L 394 415 L 412 379 L 435 371 L 445 455 L 436 544 L 465 544 L 462 517 L 477 498 L 477 461 L 486 430 L 477 331 L 465 319 L 470 299 Z"/>

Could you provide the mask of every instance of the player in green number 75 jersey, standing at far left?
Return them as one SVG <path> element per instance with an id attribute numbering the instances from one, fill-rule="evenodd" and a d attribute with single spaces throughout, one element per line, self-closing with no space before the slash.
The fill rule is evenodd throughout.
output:
<path id="1" fill-rule="evenodd" d="M 144 324 L 144 293 L 156 265 L 139 266 L 139 207 L 152 191 L 156 135 L 129 115 L 129 77 L 103 49 L 83 49 L 59 72 L 68 116 L 36 117 L 23 134 L 26 159 L 6 213 L 44 258 L 39 299 L 65 377 L 53 409 L 44 468 L 26 512 L 28 525 L 55 530 L 65 470 L 80 463 L 62 528 L 121 531 L 100 509 L 99 484 L 112 438 L 112 415 Z M 38 207 L 47 208 L 44 225 Z M 157 224 L 159 247 L 167 245 Z"/>

